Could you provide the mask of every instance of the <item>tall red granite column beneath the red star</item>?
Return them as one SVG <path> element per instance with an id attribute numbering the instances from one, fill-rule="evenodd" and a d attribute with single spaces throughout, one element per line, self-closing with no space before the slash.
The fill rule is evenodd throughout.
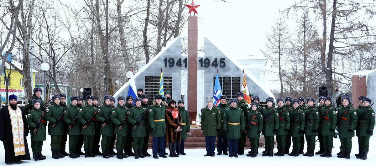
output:
<path id="1" fill-rule="evenodd" d="M 190 123 L 197 116 L 197 16 L 188 16 L 188 113 Z"/>

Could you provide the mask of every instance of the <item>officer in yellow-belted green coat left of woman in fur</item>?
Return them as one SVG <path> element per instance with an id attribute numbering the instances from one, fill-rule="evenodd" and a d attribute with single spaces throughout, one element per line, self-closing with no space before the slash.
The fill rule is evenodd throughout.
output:
<path id="1" fill-rule="evenodd" d="M 153 137 L 153 158 L 167 158 L 164 154 L 166 136 L 166 107 L 162 104 L 162 95 L 155 95 L 149 108 L 149 122 Z M 159 157 L 158 157 L 159 153 Z"/>

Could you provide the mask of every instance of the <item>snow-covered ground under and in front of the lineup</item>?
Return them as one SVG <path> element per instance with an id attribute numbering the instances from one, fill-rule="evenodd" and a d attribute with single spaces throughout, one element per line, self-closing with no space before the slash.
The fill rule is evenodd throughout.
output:
<path id="1" fill-rule="evenodd" d="M 376 128 L 374 130 L 374 133 L 376 131 Z M 30 137 L 27 137 L 27 141 L 30 146 Z M 247 140 L 248 141 L 248 140 Z M 351 152 L 351 158 L 349 160 L 346 160 L 344 158 L 337 158 L 337 153 L 340 151 L 340 139 L 337 137 L 337 139 L 334 139 L 334 148 L 331 158 L 326 157 L 320 157 L 319 155 L 315 155 L 314 157 L 306 157 L 303 155 L 300 155 L 299 157 L 293 157 L 285 155 L 284 157 L 279 156 L 273 156 L 273 157 L 263 157 L 261 156 L 261 152 L 264 151 L 263 148 L 259 148 L 259 154 L 257 157 L 247 157 L 244 155 L 239 155 L 238 158 L 235 157 L 228 157 L 228 155 L 215 155 L 215 157 L 204 157 L 206 154 L 205 149 L 185 149 L 185 153 L 187 155 L 180 155 L 180 157 L 174 157 L 174 158 L 159 158 L 154 159 L 153 157 L 146 157 L 146 158 L 140 158 L 136 160 L 133 156 L 124 158 L 123 160 L 118 160 L 116 157 L 112 158 L 102 158 L 102 156 L 97 156 L 95 158 L 85 158 L 81 156 L 80 158 L 72 159 L 68 156 L 61 158 L 61 159 L 53 159 L 51 158 L 51 150 L 50 150 L 50 136 L 47 136 L 47 140 L 43 144 L 42 153 L 47 157 L 46 160 L 41 161 L 34 161 L 33 159 L 29 161 L 24 161 L 23 165 L 27 166 L 53 166 L 54 164 L 59 165 L 74 165 L 74 164 L 81 164 L 81 165 L 103 165 L 103 164 L 111 164 L 111 165 L 120 165 L 120 164 L 137 164 L 138 166 L 144 166 L 146 164 L 152 164 L 153 166 L 160 166 L 160 165 L 166 165 L 167 163 L 173 164 L 173 165 L 201 165 L 201 164 L 210 164 L 210 165 L 221 165 L 221 166 L 238 166 L 240 164 L 267 164 L 267 165 L 290 165 L 293 164 L 292 161 L 299 165 L 316 165 L 317 164 L 341 164 L 346 163 L 347 165 L 355 165 L 355 164 L 374 164 L 376 162 L 376 136 L 371 136 L 370 139 L 370 151 L 368 153 L 368 158 L 365 161 L 361 161 L 360 159 L 355 158 L 354 154 L 358 153 L 358 137 L 353 137 L 353 148 Z M 68 142 L 67 142 L 68 143 Z M 305 144 L 306 145 L 306 144 Z M 316 147 L 318 147 L 318 142 L 316 142 Z M 30 155 L 32 154 L 31 148 L 29 147 Z M 246 149 L 245 152 L 247 153 L 249 149 Z M 274 148 L 274 153 L 277 151 L 277 148 Z M 291 151 L 291 149 L 290 149 Z M 318 151 L 318 149 L 315 149 L 315 151 Z M 68 150 L 67 150 L 68 152 Z M 148 150 L 149 154 L 152 154 L 152 149 Z M 168 149 L 167 149 L 168 152 Z M 306 147 L 304 149 L 304 152 L 306 152 Z M 217 154 L 217 152 L 216 152 Z M 2 165 L 5 164 L 4 159 L 4 147 L 0 147 L 0 160 Z M 372 165 L 373 165 L 372 164 Z M 18 165 L 18 164 L 16 164 Z"/>

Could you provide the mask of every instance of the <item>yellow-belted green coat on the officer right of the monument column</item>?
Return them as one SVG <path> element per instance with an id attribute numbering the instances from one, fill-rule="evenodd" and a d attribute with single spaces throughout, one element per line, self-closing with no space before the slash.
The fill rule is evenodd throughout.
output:
<path id="1" fill-rule="evenodd" d="M 240 124 L 227 124 L 240 123 Z M 244 120 L 243 110 L 238 107 L 230 106 L 230 109 L 223 115 L 223 130 L 228 130 L 226 133 L 229 139 L 239 139 L 240 130 L 244 130 L 246 122 Z"/>

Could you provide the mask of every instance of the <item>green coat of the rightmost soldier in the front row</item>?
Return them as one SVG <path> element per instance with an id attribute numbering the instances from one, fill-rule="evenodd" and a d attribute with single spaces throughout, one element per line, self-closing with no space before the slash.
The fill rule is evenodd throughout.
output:
<path id="1" fill-rule="evenodd" d="M 373 128 L 375 126 L 375 112 L 373 111 L 373 109 L 370 106 L 366 106 L 366 107 L 362 106 L 361 108 L 358 108 L 358 110 L 356 110 L 356 113 L 358 114 L 358 119 L 360 119 L 363 112 L 367 109 L 368 109 L 368 112 L 365 114 L 364 118 L 368 118 L 368 119 L 366 120 L 362 118 L 361 122 L 362 124 L 369 123 L 369 125 L 361 126 L 358 123 L 358 125 L 356 126 L 356 136 L 358 137 L 372 136 L 373 134 Z M 367 134 L 367 131 L 372 131 L 372 132 Z"/>

